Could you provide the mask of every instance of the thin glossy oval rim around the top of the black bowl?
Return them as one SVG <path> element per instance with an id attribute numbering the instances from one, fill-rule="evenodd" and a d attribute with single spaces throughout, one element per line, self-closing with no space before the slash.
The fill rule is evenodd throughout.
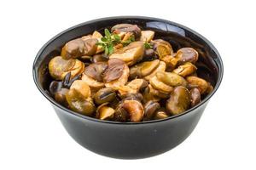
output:
<path id="1" fill-rule="evenodd" d="M 144 122 L 113 122 L 113 121 L 106 121 L 106 120 L 101 120 L 101 119 L 96 119 L 94 117 L 90 117 L 90 116 L 84 116 L 78 112 L 75 112 L 75 111 L 71 111 L 69 109 L 67 109 L 66 107 L 58 104 L 57 102 L 55 102 L 54 99 L 52 99 L 49 94 L 46 94 L 46 92 L 44 91 L 43 88 L 40 87 L 39 85 L 39 82 L 38 82 L 38 66 L 36 65 L 37 61 L 38 61 L 38 58 L 41 56 L 41 54 L 43 53 L 44 51 L 44 48 L 46 48 L 47 46 L 49 46 L 49 44 L 51 42 L 53 42 L 55 39 L 57 39 L 58 37 L 61 37 L 62 34 L 66 33 L 67 31 L 72 31 L 73 29 L 75 28 L 78 28 L 79 26 L 84 26 L 84 25 L 87 25 L 87 24 L 91 24 L 91 23 L 94 23 L 94 22 L 97 22 L 97 21 L 104 21 L 104 20 L 114 20 L 114 19 L 126 19 L 126 20 L 136 20 L 136 19 L 142 19 L 142 20 L 155 20 L 155 21 L 159 21 L 159 22 L 165 22 L 165 23 L 168 23 L 168 24 L 171 24 L 172 26 L 177 26 L 177 27 L 180 27 L 186 31 L 190 31 L 191 33 L 195 34 L 197 37 L 200 37 L 204 42 L 206 42 L 209 47 L 217 54 L 217 58 L 219 60 L 219 64 L 217 65 L 218 66 L 218 80 L 216 82 L 216 85 L 215 87 L 213 88 L 213 91 L 211 94 L 207 95 L 207 97 L 205 99 L 203 99 L 201 101 L 200 104 L 198 105 L 195 105 L 194 107 L 190 108 L 188 111 L 184 111 L 183 113 L 179 114 L 179 115 L 176 115 L 176 116 L 168 116 L 166 118 L 163 118 L 163 119 L 158 119 L 158 120 L 150 120 L 150 121 L 144 121 Z M 216 61 L 214 61 L 216 63 Z M 212 42 L 210 42 L 209 40 L 207 40 L 206 37 L 203 37 L 201 36 L 201 34 L 199 34 L 198 32 L 196 31 L 193 31 L 192 29 L 190 29 L 189 27 L 187 26 L 183 26 L 181 24 L 177 24 L 176 22 L 173 22 L 173 21 L 170 21 L 170 20 L 163 20 L 163 19 L 159 19 L 159 18 L 154 18 L 154 17 L 148 17 L 148 16 L 134 16 L 134 15 L 125 15 L 125 16 L 111 16 L 111 17 L 104 17 L 104 18 L 99 18 L 99 19 L 96 19 L 96 20 L 89 20 L 89 21 L 85 21 L 83 23 L 80 23 L 76 26 L 72 26 L 70 28 L 67 28 L 66 30 L 64 31 L 61 31 L 60 33 L 58 33 L 57 35 L 55 35 L 55 37 L 52 37 L 51 39 L 49 39 L 48 42 L 46 42 L 44 44 L 44 46 L 42 48 L 39 49 L 38 51 L 38 54 L 36 55 L 34 61 L 33 61 L 33 65 L 32 65 L 32 75 L 33 75 L 33 80 L 34 80 L 34 83 L 36 84 L 38 90 L 40 91 L 41 94 L 44 95 L 44 97 L 46 99 L 49 100 L 49 102 L 52 104 L 52 105 L 55 105 L 57 108 L 61 109 L 62 111 L 65 111 L 73 116 L 77 116 L 78 118 L 82 118 L 82 119 L 86 119 L 88 121 L 93 121 L 93 122 L 102 122 L 102 123 L 108 123 L 108 124 L 119 124 L 119 125 L 134 125 L 134 124 L 146 124 L 146 123 L 156 123 L 156 122 L 166 122 L 166 121 L 170 121 L 172 119 L 175 119 L 177 117 L 180 117 L 180 116 L 185 116 L 187 114 L 189 114 L 189 112 L 191 111 L 194 111 L 196 110 L 197 108 L 201 107 L 202 105 L 205 105 L 207 103 L 207 101 L 209 99 L 212 98 L 213 94 L 216 93 L 216 91 L 218 90 L 219 88 L 219 85 L 220 83 L 222 82 L 222 79 L 223 79 L 223 75 L 224 75 L 224 65 L 223 65 L 223 61 L 220 57 L 220 54 L 218 53 L 218 50 L 217 48 L 215 48 L 212 44 Z"/>

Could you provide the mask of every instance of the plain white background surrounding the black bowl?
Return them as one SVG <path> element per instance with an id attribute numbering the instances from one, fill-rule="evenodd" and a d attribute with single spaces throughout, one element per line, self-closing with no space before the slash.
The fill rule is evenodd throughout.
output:
<path id="1" fill-rule="evenodd" d="M 168 2 L 168 3 L 167 3 Z M 253 1 L 1 1 L 0 169 L 255 169 L 256 16 Z M 77 144 L 32 81 L 32 61 L 70 26 L 145 15 L 189 26 L 224 60 L 224 80 L 195 131 L 160 156 L 117 160 Z"/>

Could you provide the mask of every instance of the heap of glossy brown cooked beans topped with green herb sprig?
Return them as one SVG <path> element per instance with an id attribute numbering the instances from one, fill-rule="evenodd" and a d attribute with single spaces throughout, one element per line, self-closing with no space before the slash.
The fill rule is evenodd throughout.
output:
<path id="1" fill-rule="evenodd" d="M 197 77 L 198 53 L 154 39 L 154 31 L 119 24 L 67 42 L 49 61 L 56 102 L 86 116 L 117 122 L 162 119 L 187 111 L 212 92 Z"/>

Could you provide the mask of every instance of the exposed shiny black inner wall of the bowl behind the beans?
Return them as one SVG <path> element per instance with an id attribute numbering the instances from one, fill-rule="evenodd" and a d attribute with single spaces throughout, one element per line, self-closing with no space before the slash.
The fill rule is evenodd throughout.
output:
<path id="1" fill-rule="evenodd" d="M 198 76 L 211 82 L 216 91 L 223 74 L 223 65 L 218 51 L 212 46 L 211 42 L 185 26 L 167 20 L 147 17 L 113 17 L 91 20 L 73 26 L 49 40 L 38 52 L 33 65 L 35 82 L 38 84 L 40 91 L 49 97 L 48 89 L 52 79 L 49 76 L 48 63 L 50 59 L 61 53 L 61 47 L 66 42 L 90 34 L 93 31 L 102 33 L 104 28 L 110 29 L 120 23 L 137 24 L 143 30 L 155 31 L 154 39 L 161 38 L 170 42 L 174 51 L 183 47 L 195 48 L 199 53 L 199 60 L 196 64 Z"/>

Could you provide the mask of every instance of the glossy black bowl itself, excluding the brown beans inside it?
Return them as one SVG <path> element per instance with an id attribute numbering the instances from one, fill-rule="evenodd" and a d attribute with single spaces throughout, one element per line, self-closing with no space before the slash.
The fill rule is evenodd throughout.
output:
<path id="1" fill-rule="evenodd" d="M 61 46 L 66 42 L 119 23 L 137 24 L 143 30 L 154 30 L 155 37 L 171 42 L 175 51 L 182 47 L 195 48 L 200 54 L 197 64 L 199 77 L 212 82 L 212 94 L 183 114 L 148 122 L 102 121 L 80 115 L 56 103 L 48 94 L 49 59 L 60 54 Z M 185 26 L 169 20 L 121 16 L 84 22 L 53 37 L 38 52 L 33 64 L 33 77 L 41 94 L 53 105 L 67 133 L 84 148 L 103 156 L 136 159 L 156 156 L 171 150 L 192 133 L 209 99 L 219 87 L 223 77 L 223 63 L 211 42 Z"/>

